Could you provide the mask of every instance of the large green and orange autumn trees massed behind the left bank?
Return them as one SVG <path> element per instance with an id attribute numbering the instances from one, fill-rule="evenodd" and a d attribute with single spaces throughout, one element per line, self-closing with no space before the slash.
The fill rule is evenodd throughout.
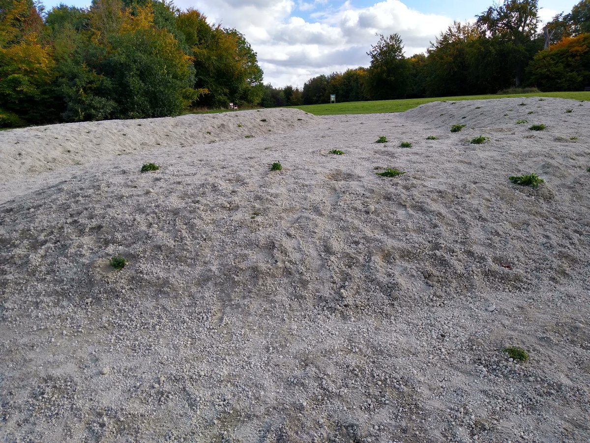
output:
<path id="1" fill-rule="evenodd" d="M 0 127 L 257 104 L 262 80 L 244 35 L 195 9 L 93 0 L 44 14 L 34 0 L 0 0 Z"/>

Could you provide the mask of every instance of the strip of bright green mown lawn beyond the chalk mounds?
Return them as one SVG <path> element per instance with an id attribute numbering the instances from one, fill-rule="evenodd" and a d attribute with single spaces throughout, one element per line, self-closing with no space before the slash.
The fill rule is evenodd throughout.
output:
<path id="1" fill-rule="evenodd" d="M 506 97 L 558 97 L 561 99 L 589 100 L 588 92 L 536 92 L 530 94 L 508 95 L 468 95 L 458 97 L 430 97 L 427 99 L 402 99 L 402 100 L 377 100 L 375 102 L 348 102 L 331 103 L 324 105 L 290 106 L 309 112 L 313 115 L 338 115 L 338 114 L 374 114 L 380 112 L 404 112 L 424 103 L 431 102 L 458 102 L 460 100 L 504 99 Z"/>

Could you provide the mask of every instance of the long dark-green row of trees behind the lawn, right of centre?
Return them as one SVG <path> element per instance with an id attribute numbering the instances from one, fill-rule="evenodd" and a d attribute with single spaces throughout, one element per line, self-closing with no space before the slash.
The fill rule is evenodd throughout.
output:
<path id="1" fill-rule="evenodd" d="M 412 57 L 404 56 L 399 34 L 379 35 L 367 53 L 368 68 L 313 77 L 296 96 L 291 86 L 266 85 L 263 105 L 329 103 L 331 94 L 338 102 L 350 102 L 590 86 L 590 0 L 556 15 L 540 32 L 538 12 L 537 0 L 504 0 L 477 15 L 473 24 L 455 21 L 426 54 Z"/>

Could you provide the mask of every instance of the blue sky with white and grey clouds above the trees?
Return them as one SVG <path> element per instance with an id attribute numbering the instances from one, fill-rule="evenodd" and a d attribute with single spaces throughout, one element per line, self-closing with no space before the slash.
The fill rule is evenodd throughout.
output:
<path id="1" fill-rule="evenodd" d="M 568 13 L 579 0 L 539 0 L 547 22 Z M 44 0 L 46 9 L 60 3 L 87 8 L 91 0 Z M 368 67 L 367 52 L 377 34 L 397 32 L 406 56 L 424 53 L 454 20 L 474 21 L 494 0 L 174 0 L 194 8 L 209 23 L 235 28 L 258 54 L 264 83 L 303 87 L 320 74 Z M 501 3 L 501 2 L 500 2 Z"/>

